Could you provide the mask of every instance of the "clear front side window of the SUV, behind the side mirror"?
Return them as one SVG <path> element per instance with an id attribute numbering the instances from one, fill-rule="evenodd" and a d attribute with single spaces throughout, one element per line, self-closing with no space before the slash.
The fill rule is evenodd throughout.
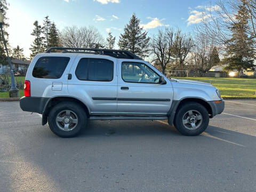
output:
<path id="1" fill-rule="evenodd" d="M 159 83 L 159 75 L 144 63 L 123 62 L 122 78 L 130 83 Z"/>

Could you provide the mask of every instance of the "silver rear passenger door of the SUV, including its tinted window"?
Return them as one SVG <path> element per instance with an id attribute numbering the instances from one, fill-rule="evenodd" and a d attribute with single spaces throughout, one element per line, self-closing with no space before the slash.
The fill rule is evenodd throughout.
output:
<path id="1" fill-rule="evenodd" d="M 106 55 L 77 55 L 70 69 L 68 93 L 83 100 L 94 115 L 117 109 L 117 59 Z"/>

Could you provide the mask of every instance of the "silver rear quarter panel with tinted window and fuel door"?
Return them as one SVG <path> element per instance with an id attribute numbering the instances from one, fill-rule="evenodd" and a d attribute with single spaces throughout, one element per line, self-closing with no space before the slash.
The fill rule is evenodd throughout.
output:
<path id="1" fill-rule="evenodd" d="M 75 59 L 70 54 L 38 54 L 29 67 L 26 79 L 30 81 L 31 97 L 67 94 L 67 74 Z M 33 67 L 34 65 L 34 67 Z"/>

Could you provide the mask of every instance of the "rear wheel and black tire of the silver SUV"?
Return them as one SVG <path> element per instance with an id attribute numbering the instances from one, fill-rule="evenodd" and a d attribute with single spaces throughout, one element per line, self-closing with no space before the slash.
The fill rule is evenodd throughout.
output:
<path id="1" fill-rule="evenodd" d="M 70 115 L 68 116 L 67 114 L 70 114 Z M 61 117 L 61 115 L 63 117 Z M 63 122 L 62 121 L 59 122 L 57 120 L 57 116 L 60 117 L 61 119 L 64 118 Z M 65 119 L 67 119 L 67 121 L 70 121 L 70 122 L 65 123 Z M 75 123 L 75 121 L 77 123 Z M 77 103 L 61 102 L 55 105 L 51 109 L 50 114 L 48 116 L 48 123 L 51 131 L 54 134 L 62 138 L 71 138 L 78 135 L 82 131 L 82 129 L 86 126 L 87 115 L 85 110 L 81 106 L 79 106 Z M 68 124 L 68 127 L 65 127 L 65 124 Z"/>

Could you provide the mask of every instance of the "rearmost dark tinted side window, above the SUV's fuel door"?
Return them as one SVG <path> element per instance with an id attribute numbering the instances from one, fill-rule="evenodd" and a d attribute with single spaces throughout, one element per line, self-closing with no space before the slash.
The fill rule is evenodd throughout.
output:
<path id="1" fill-rule="evenodd" d="M 36 61 L 33 77 L 58 79 L 66 69 L 69 57 L 41 57 Z"/>

